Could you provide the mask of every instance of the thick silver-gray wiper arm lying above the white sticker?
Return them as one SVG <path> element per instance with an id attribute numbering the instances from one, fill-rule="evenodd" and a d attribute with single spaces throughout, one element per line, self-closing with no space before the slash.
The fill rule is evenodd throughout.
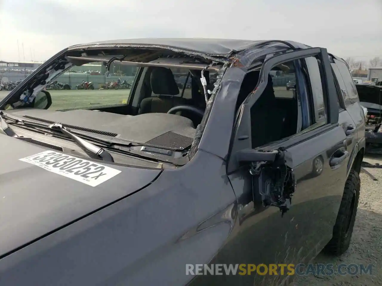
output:
<path id="1" fill-rule="evenodd" d="M 49 128 L 52 130 L 60 130 L 64 135 L 73 139 L 73 141 L 76 142 L 77 145 L 89 156 L 95 159 L 114 162 L 113 156 L 108 151 L 78 137 L 77 135 L 74 135 L 68 129 L 66 129 L 66 127 L 63 127 L 62 124 L 53 123 L 52 125 L 49 125 Z"/>

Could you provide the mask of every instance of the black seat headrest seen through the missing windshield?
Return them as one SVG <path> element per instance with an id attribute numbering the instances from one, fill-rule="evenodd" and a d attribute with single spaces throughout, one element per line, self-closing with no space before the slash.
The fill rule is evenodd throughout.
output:
<path id="1" fill-rule="evenodd" d="M 152 92 L 156 95 L 178 95 L 179 88 L 171 69 L 154 67 L 150 75 Z"/>

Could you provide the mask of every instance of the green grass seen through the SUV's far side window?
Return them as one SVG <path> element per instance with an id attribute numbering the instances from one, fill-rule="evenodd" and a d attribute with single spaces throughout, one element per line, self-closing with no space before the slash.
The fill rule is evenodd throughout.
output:
<path id="1" fill-rule="evenodd" d="M 48 90 L 52 96 L 52 105 L 49 110 L 68 108 L 83 108 L 126 103 L 129 98 L 129 89 L 120 90 Z M 0 100 L 9 91 L 0 91 Z"/>

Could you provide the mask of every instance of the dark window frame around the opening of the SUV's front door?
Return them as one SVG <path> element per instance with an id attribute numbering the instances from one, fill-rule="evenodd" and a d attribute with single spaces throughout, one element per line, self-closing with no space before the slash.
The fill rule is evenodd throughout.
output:
<path id="1" fill-rule="evenodd" d="M 335 85 L 333 82 L 333 75 L 331 71 L 331 66 L 329 62 L 329 55 L 327 50 L 324 48 L 308 48 L 303 50 L 290 51 L 288 53 L 283 53 L 281 55 L 276 55 L 272 58 L 264 61 L 261 67 L 259 80 L 257 82 L 256 88 L 241 104 L 238 115 L 236 117 L 234 128 L 232 132 L 230 150 L 228 152 L 228 162 L 227 162 L 227 173 L 230 174 L 240 167 L 240 164 L 236 158 L 236 153 L 242 149 L 252 149 L 252 139 L 251 139 L 251 115 L 250 109 L 253 104 L 258 100 L 264 91 L 268 83 L 268 74 L 272 67 L 276 64 L 281 64 L 286 61 L 293 61 L 300 58 L 306 58 L 309 56 L 319 56 L 323 64 L 323 78 L 326 79 L 324 82 L 325 91 L 327 92 L 328 98 L 328 116 L 329 120 L 327 124 L 335 124 L 338 122 L 338 108 L 337 108 L 337 96 L 330 96 L 335 92 Z M 250 67 L 248 68 L 250 69 Z M 265 76 L 266 75 L 266 76 Z M 334 98 L 334 100 L 333 100 Z M 333 106 L 335 108 L 333 108 Z"/>

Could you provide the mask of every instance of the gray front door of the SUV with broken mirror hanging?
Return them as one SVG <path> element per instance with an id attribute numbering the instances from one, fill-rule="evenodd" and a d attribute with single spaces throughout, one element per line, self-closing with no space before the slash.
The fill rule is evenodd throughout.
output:
<path id="1" fill-rule="evenodd" d="M 272 172 L 278 172 L 277 167 L 266 174 L 261 168 L 257 173 L 249 172 L 248 165 L 240 164 L 235 154 L 251 149 L 251 140 L 262 136 L 251 134 L 250 110 L 267 85 L 270 69 L 285 63 L 295 68 L 299 110 L 298 120 L 289 121 L 300 123 L 294 135 L 256 148 L 261 152 L 284 148 L 288 176 L 279 182 L 272 178 Z M 311 48 L 275 56 L 264 63 L 260 78 L 256 92 L 248 96 L 238 111 L 228 161 L 228 177 L 238 198 L 238 224 L 230 239 L 230 244 L 236 247 L 227 247 L 235 253 L 227 255 L 231 257 L 227 263 L 296 265 L 316 256 L 332 237 L 349 160 L 346 134 L 338 125 L 337 93 L 325 49 Z M 282 87 L 274 87 L 275 93 L 278 89 Z M 256 165 L 262 160 L 259 155 L 252 163 Z M 318 169 L 317 162 L 321 164 Z M 270 198 L 268 190 L 275 190 L 277 183 L 284 183 L 285 190 L 292 188 L 288 179 L 292 175 L 296 186 L 291 205 L 288 206 L 289 199 L 284 201 L 288 210 L 283 213 L 282 207 L 266 206 L 264 201 L 278 204 L 275 197 Z M 241 285 L 267 285 L 279 284 L 287 278 L 287 275 L 255 274 L 229 279 L 237 279 L 235 282 Z"/>

